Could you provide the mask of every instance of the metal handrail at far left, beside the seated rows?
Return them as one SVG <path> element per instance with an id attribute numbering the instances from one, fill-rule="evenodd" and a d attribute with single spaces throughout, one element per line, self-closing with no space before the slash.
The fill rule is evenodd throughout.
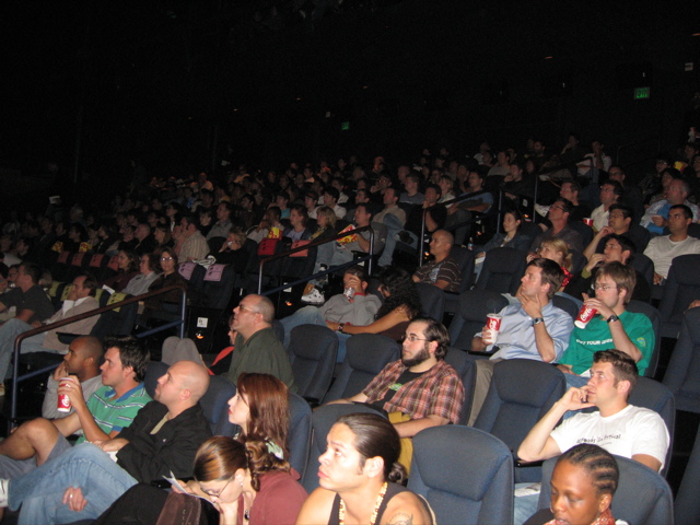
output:
<path id="1" fill-rule="evenodd" d="M 164 329 L 171 328 L 173 326 L 178 326 L 179 325 L 179 337 L 184 338 L 185 337 L 185 311 L 187 307 L 187 288 L 184 284 L 173 284 L 166 288 L 163 288 L 161 290 L 156 290 L 153 292 L 147 292 L 143 293 L 141 295 L 135 295 L 132 298 L 129 299 L 125 299 L 124 301 L 119 301 L 118 303 L 114 303 L 114 304 L 108 304 L 106 306 L 102 306 L 100 308 L 96 310 L 91 310 L 90 312 L 85 312 L 83 314 L 79 314 L 79 315 L 73 315 L 72 317 L 67 317 L 66 319 L 61 319 L 61 320 L 57 320 L 56 323 L 51 323 L 50 325 L 43 325 L 39 326 L 38 328 L 32 328 L 31 330 L 24 331 L 22 334 L 20 334 L 15 339 L 14 339 L 14 349 L 13 349 L 13 355 L 14 355 L 14 364 L 12 368 L 12 407 L 10 410 L 10 424 L 14 424 L 14 421 L 16 419 L 16 411 L 18 411 L 18 384 L 22 381 L 25 380 L 30 380 L 32 377 L 35 377 L 36 375 L 43 374 L 48 372 L 49 370 L 54 370 L 55 365 L 51 366 L 47 366 L 40 370 L 36 370 L 34 372 L 31 372 L 28 374 L 24 374 L 24 375 L 20 375 L 20 348 L 22 347 L 22 341 L 24 339 L 26 339 L 27 337 L 32 337 L 32 336 L 36 336 L 38 334 L 44 334 L 46 331 L 49 330 L 55 330 L 56 328 L 60 328 L 61 326 L 66 326 L 66 325 L 70 325 L 71 323 L 75 323 L 78 320 L 82 320 L 82 319 L 86 319 L 89 317 L 93 317 L 95 315 L 101 315 L 105 312 L 109 312 L 112 310 L 116 310 L 119 308 L 121 306 L 126 306 L 128 304 L 132 304 L 132 303 L 137 303 L 139 301 L 143 301 L 145 299 L 150 299 L 150 298 L 154 298 L 156 295 L 164 295 L 165 293 L 172 292 L 173 290 L 180 290 L 182 293 L 182 299 L 180 299 L 180 318 L 178 320 L 174 320 L 171 322 L 166 325 L 160 326 L 158 328 L 144 331 L 139 334 L 137 337 L 138 338 L 143 338 L 143 337 L 148 337 L 152 334 L 155 334 L 158 331 L 162 331 Z"/>

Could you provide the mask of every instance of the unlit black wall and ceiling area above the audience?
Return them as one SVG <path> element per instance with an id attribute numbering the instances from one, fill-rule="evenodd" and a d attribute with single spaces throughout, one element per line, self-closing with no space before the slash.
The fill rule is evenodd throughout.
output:
<path id="1" fill-rule="evenodd" d="M 700 90 L 697 8 L 657 3 L 348 0 L 313 24 L 287 2 L 3 3 L 0 165 L 55 159 L 104 187 L 135 155 L 179 175 L 228 148 L 275 167 L 398 162 L 485 139 L 559 149 L 570 130 L 614 158 L 641 141 L 631 163 L 678 147 Z M 633 100 L 642 85 L 651 97 Z"/>

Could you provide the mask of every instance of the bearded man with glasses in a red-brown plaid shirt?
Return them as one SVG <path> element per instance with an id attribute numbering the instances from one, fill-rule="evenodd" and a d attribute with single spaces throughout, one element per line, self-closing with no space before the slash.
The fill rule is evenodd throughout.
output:
<path id="1" fill-rule="evenodd" d="M 400 438 L 456 424 L 464 385 L 444 361 L 448 348 L 447 329 L 434 319 L 418 317 L 406 328 L 401 359 L 387 364 L 360 394 L 332 402 L 366 402 L 389 415 L 401 412 L 407 420 L 394 423 Z"/>

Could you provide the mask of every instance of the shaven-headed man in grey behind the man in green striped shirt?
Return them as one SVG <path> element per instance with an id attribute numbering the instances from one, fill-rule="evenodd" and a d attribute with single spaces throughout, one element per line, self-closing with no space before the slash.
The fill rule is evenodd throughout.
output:
<path id="1" fill-rule="evenodd" d="M 78 376 L 83 389 L 83 399 L 88 402 L 88 399 L 102 386 L 100 365 L 103 357 L 104 348 L 96 337 L 82 336 L 73 340 L 61 364 L 48 376 L 42 416 L 46 419 L 62 419 L 75 411 L 72 406 L 68 412 L 58 411 L 58 384 L 68 375 Z"/>

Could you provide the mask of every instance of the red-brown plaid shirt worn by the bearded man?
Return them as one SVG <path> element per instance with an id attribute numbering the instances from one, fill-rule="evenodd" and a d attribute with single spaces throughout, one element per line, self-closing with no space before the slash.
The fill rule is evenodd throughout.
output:
<path id="1" fill-rule="evenodd" d="M 401 361 L 387 364 L 363 390 L 366 402 L 384 398 L 386 390 L 406 371 Z M 411 419 L 440 416 L 457 424 L 464 404 L 464 385 L 455 370 L 444 361 L 402 385 L 390 401 L 384 404 L 387 412 L 402 412 Z"/>

